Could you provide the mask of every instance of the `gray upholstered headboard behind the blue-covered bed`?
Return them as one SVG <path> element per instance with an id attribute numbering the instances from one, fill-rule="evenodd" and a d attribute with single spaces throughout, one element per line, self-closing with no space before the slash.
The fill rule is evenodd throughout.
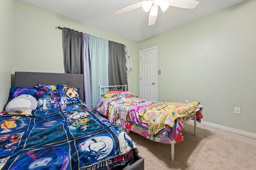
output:
<path id="1" fill-rule="evenodd" d="M 37 84 L 66 84 L 68 87 L 80 88 L 81 98 L 84 101 L 84 74 L 15 72 L 14 86 L 33 88 Z"/>

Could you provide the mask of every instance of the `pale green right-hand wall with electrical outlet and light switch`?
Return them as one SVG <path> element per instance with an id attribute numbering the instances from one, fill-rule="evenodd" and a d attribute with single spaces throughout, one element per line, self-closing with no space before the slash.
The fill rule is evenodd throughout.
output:
<path id="1" fill-rule="evenodd" d="M 158 101 L 199 101 L 203 121 L 256 133 L 255 6 L 247 0 L 141 41 L 139 50 L 158 46 Z"/>

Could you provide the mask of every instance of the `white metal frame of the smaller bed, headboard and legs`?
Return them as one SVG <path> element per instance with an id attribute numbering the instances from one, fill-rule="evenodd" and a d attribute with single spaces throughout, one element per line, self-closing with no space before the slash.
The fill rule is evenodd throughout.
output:
<path id="1" fill-rule="evenodd" d="M 119 86 L 100 86 L 100 93 L 99 93 L 99 100 L 107 94 L 108 91 L 126 91 L 126 85 L 119 85 Z M 101 115 L 101 114 L 100 114 Z M 105 117 L 105 116 L 104 116 Z M 197 135 L 196 132 L 196 113 L 182 122 L 182 124 L 187 123 L 188 121 L 194 119 L 194 135 Z M 171 144 L 171 159 L 174 160 L 174 144 Z"/>

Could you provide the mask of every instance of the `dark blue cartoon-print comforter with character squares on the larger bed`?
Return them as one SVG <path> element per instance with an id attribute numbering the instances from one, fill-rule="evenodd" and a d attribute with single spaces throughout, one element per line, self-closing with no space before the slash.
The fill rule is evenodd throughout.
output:
<path id="1" fill-rule="evenodd" d="M 0 169 L 98 170 L 132 163 L 130 137 L 79 105 L 0 116 Z"/>

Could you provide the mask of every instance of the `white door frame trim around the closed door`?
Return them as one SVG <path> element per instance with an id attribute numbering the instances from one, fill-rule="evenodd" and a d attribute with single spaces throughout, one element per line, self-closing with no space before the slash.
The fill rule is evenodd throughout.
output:
<path id="1" fill-rule="evenodd" d="M 155 93 L 156 93 L 156 102 L 158 101 L 158 68 L 157 68 L 157 55 L 158 55 L 158 52 L 157 52 L 157 46 L 154 46 L 154 47 L 150 47 L 150 48 L 147 48 L 147 49 L 143 49 L 143 50 L 140 50 L 140 64 L 141 64 L 141 57 L 142 57 L 142 52 L 143 51 L 147 51 L 147 50 L 151 50 L 151 49 L 156 49 L 156 62 L 154 63 L 155 67 L 156 67 L 156 76 L 155 76 L 155 86 L 156 86 L 156 90 L 155 90 Z M 140 97 L 142 96 L 142 90 L 141 90 L 141 65 L 140 65 Z"/>

